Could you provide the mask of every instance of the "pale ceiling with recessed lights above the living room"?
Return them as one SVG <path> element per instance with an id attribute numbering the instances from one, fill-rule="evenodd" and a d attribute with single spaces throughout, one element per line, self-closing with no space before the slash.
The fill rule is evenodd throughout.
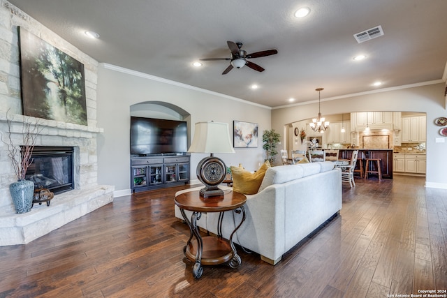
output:
<path id="1" fill-rule="evenodd" d="M 99 62 L 269 107 L 318 100 L 318 87 L 324 100 L 440 81 L 447 62 L 446 0 L 9 1 Z M 311 12 L 298 19 L 302 6 Z M 379 25 L 383 36 L 353 37 Z M 245 66 L 221 75 L 229 61 L 191 65 L 229 58 L 227 40 L 278 54 L 250 59 L 262 73 Z M 367 58 L 354 61 L 358 54 Z"/>

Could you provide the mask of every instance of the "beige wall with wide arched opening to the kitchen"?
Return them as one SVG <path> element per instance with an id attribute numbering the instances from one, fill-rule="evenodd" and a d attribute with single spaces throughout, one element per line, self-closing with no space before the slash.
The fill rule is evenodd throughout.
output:
<path id="1" fill-rule="evenodd" d="M 427 113 L 427 175 L 426 186 L 447 188 L 447 138 L 439 135 L 437 117 L 447 117 L 445 84 L 429 84 L 420 87 L 377 92 L 362 96 L 321 101 L 321 114 L 340 114 L 367 111 L 402 111 Z M 301 119 L 315 117 L 318 102 L 272 110 L 272 128 L 282 133 L 284 125 Z M 444 142 L 437 142 L 444 140 Z"/>

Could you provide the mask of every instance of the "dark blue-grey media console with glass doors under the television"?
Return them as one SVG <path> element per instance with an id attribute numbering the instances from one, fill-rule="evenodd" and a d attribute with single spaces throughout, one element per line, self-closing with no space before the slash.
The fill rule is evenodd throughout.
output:
<path id="1" fill-rule="evenodd" d="M 132 156 L 132 192 L 189 184 L 189 157 L 189 155 Z"/>

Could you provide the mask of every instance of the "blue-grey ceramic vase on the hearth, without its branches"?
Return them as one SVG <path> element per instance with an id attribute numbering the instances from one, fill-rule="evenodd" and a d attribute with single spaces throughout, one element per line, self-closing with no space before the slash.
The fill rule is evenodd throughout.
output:
<path id="1" fill-rule="evenodd" d="M 19 180 L 10 184 L 9 192 L 13 198 L 15 213 L 22 214 L 31 211 L 34 196 L 34 182 Z"/>

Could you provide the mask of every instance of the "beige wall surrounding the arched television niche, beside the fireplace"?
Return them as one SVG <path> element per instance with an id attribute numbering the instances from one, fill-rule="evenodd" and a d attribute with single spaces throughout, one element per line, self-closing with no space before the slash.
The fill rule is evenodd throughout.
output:
<path id="1" fill-rule="evenodd" d="M 235 149 L 236 154 L 219 154 L 226 165 L 242 163 L 247 170 L 257 170 L 263 163 L 262 133 L 270 129 L 271 109 L 237 98 L 161 80 L 132 70 L 100 64 L 98 71 L 98 126 L 104 133 L 98 137 L 98 182 L 115 185 L 116 195 L 130 190 L 129 129 L 131 105 L 159 101 L 170 103 L 198 121 L 254 122 L 259 125 L 258 148 Z M 141 115 L 142 116 L 142 115 Z M 230 135 L 233 133 L 230 131 Z M 197 180 L 196 167 L 206 154 L 191 154 L 191 179 Z M 121 192 L 120 192 L 121 191 Z"/>

